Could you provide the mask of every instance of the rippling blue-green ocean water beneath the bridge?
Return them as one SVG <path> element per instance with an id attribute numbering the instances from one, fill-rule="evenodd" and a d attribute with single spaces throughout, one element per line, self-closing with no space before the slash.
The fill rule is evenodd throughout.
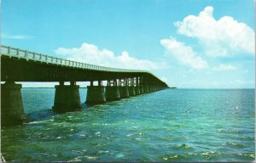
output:
<path id="1" fill-rule="evenodd" d="M 65 114 L 51 110 L 55 89 L 21 93 L 26 124 L 1 130 L 8 161 L 255 159 L 254 89 L 166 89 Z"/>

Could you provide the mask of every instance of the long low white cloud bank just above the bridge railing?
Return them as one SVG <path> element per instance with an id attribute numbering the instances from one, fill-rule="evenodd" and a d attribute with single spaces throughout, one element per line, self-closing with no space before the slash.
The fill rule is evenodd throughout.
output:
<path id="1" fill-rule="evenodd" d="M 55 53 L 64 55 L 67 59 L 114 68 L 156 70 L 167 67 L 164 62 L 136 59 L 126 51 L 123 51 L 120 55 L 115 55 L 108 49 L 99 49 L 96 45 L 89 43 L 83 43 L 80 48 L 57 48 Z"/>

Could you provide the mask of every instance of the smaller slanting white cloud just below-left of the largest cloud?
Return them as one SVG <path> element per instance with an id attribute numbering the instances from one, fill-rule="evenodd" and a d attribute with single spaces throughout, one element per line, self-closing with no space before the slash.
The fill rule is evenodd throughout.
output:
<path id="1" fill-rule="evenodd" d="M 193 48 L 186 46 L 183 42 L 177 42 L 174 38 L 162 39 L 161 45 L 166 48 L 177 61 L 183 65 L 189 65 L 193 69 L 205 69 L 208 67 L 207 62 L 201 59 Z"/>

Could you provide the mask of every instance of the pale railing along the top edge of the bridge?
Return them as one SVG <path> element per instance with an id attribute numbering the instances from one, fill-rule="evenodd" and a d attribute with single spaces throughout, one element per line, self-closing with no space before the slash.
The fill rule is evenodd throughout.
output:
<path id="1" fill-rule="evenodd" d="M 60 59 L 56 57 L 52 57 L 49 55 L 45 55 L 42 53 L 35 53 L 28 50 L 23 50 L 20 48 L 12 48 L 5 45 L 0 45 L 1 48 L 1 55 L 6 55 L 19 59 L 26 59 L 26 60 L 34 60 L 34 61 L 40 61 L 47 64 L 54 64 L 54 65 L 65 65 L 70 67 L 76 67 L 81 69 L 89 69 L 89 70 L 103 70 L 103 71 L 120 71 L 120 72 L 148 72 L 145 70 L 127 70 L 127 69 L 116 69 L 116 68 L 110 68 L 105 66 L 99 66 L 99 65 L 90 65 L 85 64 L 73 60 L 68 59 Z"/>

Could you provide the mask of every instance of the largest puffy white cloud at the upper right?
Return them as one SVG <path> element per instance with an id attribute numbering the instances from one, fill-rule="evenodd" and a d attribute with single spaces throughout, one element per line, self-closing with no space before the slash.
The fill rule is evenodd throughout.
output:
<path id="1" fill-rule="evenodd" d="M 209 56 L 254 54 L 253 29 L 230 16 L 216 20 L 211 6 L 205 8 L 199 15 L 189 15 L 174 25 L 177 26 L 178 33 L 197 38 Z"/>

